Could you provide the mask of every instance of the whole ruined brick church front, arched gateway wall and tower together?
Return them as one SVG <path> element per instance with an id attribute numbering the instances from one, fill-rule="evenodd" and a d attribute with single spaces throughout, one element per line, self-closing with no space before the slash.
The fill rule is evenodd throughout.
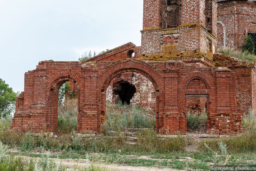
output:
<path id="1" fill-rule="evenodd" d="M 77 92 L 78 133 L 101 133 L 107 100 L 154 111 L 159 134 L 186 134 L 189 109 L 207 111 L 209 134 L 240 132 L 243 109 L 256 107 L 255 68 L 216 54 L 217 0 L 144 0 L 143 6 L 141 46 L 127 43 L 84 62 L 42 61 L 27 72 L 11 127 L 56 132 L 58 90 L 69 81 Z"/>

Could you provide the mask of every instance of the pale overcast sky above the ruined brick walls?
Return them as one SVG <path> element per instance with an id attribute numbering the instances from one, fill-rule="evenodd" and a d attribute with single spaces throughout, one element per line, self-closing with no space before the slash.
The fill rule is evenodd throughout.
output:
<path id="1" fill-rule="evenodd" d="M 40 61 L 140 46 L 142 12 L 143 0 L 0 0 L 0 78 L 21 92 Z"/>

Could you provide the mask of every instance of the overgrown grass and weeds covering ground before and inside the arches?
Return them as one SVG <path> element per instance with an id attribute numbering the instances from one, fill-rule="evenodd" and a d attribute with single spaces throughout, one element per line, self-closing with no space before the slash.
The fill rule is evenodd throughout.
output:
<path id="1" fill-rule="evenodd" d="M 76 117 L 76 102 L 70 101 L 67 103 L 71 104 L 61 106 L 62 108 L 59 111 L 62 112 L 62 114 L 59 115 L 59 118 L 61 117 L 65 119 L 65 117 Z M 195 113 L 193 115 L 195 116 L 188 116 L 188 122 L 195 123 L 196 125 L 197 123 L 206 121 L 206 117 L 204 115 Z M 43 166 L 44 169 L 45 165 L 43 165 L 43 163 L 47 163 L 45 161 L 50 158 L 58 158 L 58 156 L 45 156 L 42 154 L 31 153 L 35 150 L 40 151 L 42 149 L 51 151 L 53 154 L 59 154 L 60 159 L 82 158 L 89 159 L 90 161 L 97 163 L 103 162 L 106 164 L 114 163 L 129 166 L 154 166 L 160 168 L 168 167 L 185 170 L 209 170 L 209 163 L 256 164 L 256 119 L 254 111 L 251 109 L 244 114 L 243 126 L 245 128 L 245 132 L 236 136 L 221 139 L 208 139 L 199 143 L 194 141 L 191 143 L 190 138 L 186 139 L 181 136 L 167 139 L 157 138 L 154 129 L 152 129 L 155 124 L 154 118 L 155 116 L 152 116 L 151 113 L 137 107 L 121 104 L 107 104 L 106 123 L 109 128 L 107 134 L 102 137 L 83 139 L 77 137 L 76 131 L 74 131 L 75 127 L 70 126 L 74 125 L 74 120 L 72 119 L 66 120 L 66 122 L 71 123 L 68 123 L 67 125 L 63 124 L 58 128 L 58 131 L 63 129 L 66 130 L 66 125 L 68 131 L 61 133 L 58 138 L 53 138 L 43 137 L 42 135 L 35 137 L 23 132 L 7 131 L 11 124 L 11 118 L 1 118 L 0 140 L 2 141 L 2 144 L 0 143 L 0 153 L 2 155 L 0 155 L 0 169 L 15 170 L 16 168 L 22 168 L 20 170 L 23 171 L 33 170 L 35 167 L 41 166 Z M 139 135 L 136 142 L 129 144 L 127 143 L 127 135 L 123 131 L 125 128 L 146 129 L 142 129 L 138 133 Z M 111 135 L 108 132 L 112 132 Z M 186 146 L 188 144 L 194 146 L 194 148 L 198 147 L 198 151 L 186 151 Z M 8 145 L 8 148 L 15 147 L 20 152 L 9 153 L 6 151 L 6 145 Z M 207 148 L 207 146 L 209 148 Z M 101 155 L 94 153 L 101 153 Z M 218 156 L 216 154 L 221 155 Z M 17 155 L 40 157 L 40 160 L 28 160 L 24 157 L 16 157 Z M 138 157 L 133 158 L 127 155 L 137 155 Z M 150 158 L 139 158 L 139 156 L 145 155 Z M 191 157 L 192 160 L 180 160 L 182 157 Z M 48 161 L 50 162 L 50 160 Z M 50 165 L 56 166 L 56 163 L 50 162 Z M 65 169 L 64 166 L 62 167 Z M 97 165 L 91 165 L 87 168 L 80 168 L 80 170 L 103 171 L 108 169 L 104 167 L 100 168 Z"/>

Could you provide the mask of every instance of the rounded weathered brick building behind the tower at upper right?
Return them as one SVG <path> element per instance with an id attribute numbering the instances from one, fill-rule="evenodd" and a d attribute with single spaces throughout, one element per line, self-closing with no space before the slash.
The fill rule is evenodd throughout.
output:
<path id="1" fill-rule="evenodd" d="M 241 48 L 248 32 L 256 33 L 256 2 L 225 1 L 218 5 L 218 47 Z"/>

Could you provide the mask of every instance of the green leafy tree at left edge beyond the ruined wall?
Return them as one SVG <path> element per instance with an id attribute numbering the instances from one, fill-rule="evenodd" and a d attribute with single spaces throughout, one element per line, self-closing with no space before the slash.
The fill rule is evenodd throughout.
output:
<path id="1" fill-rule="evenodd" d="M 19 92 L 14 93 L 11 87 L 0 78 L 0 116 L 6 117 L 15 112 L 15 99 Z"/>

